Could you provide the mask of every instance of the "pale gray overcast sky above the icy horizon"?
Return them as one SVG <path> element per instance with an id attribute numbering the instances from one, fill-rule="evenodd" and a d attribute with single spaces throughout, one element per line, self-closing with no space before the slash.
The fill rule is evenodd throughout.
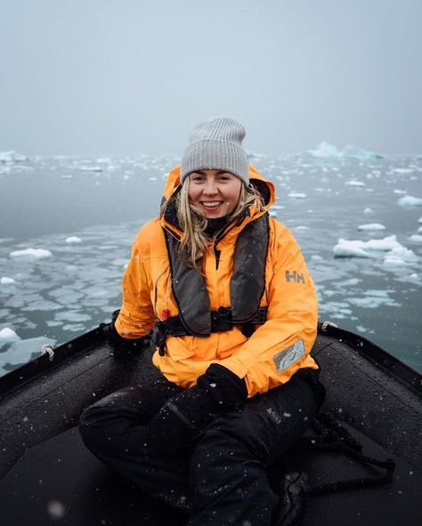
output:
<path id="1" fill-rule="evenodd" d="M 0 151 L 422 153 L 420 0 L 0 0 Z"/>

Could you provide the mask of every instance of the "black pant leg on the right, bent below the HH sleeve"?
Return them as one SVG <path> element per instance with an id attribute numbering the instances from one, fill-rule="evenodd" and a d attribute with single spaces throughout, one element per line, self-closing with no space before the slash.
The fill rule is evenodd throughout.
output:
<path id="1" fill-rule="evenodd" d="M 189 526 L 269 526 L 280 500 L 269 468 L 304 433 L 320 403 L 312 384 L 295 375 L 240 412 L 215 417 L 191 457 Z"/>

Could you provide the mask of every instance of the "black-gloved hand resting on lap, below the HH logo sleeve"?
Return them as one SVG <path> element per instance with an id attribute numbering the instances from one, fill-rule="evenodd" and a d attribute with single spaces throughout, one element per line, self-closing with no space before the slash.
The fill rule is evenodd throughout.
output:
<path id="1" fill-rule="evenodd" d="M 213 363 L 197 384 L 170 398 L 150 421 L 150 437 L 163 453 L 172 454 L 188 446 L 215 413 L 236 409 L 246 401 L 244 378 Z"/>

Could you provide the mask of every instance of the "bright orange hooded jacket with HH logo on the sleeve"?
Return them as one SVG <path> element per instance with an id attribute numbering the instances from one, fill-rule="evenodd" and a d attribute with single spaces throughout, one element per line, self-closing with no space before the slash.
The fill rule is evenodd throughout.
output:
<path id="1" fill-rule="evenodd" d="M 170 172 L 165 198 L 178 186 L 179 174 L 180 166 Z M 231 305 L 229 284 L 239 231 L 264 214 L 275 200 L 272 182 L 266 181 L 251 165 L 249 174 L 251 180 L 267 185 L 271 197 L 264 212 L 259 213 L 256 206 L 252 206 L 251 214 L 218 242 L 221 251 L 218 270 L 215 268 L 214 247 L 209 247 L 204 255 L 203 271 L 213 311 Z M 152 360 L 171 382 L 191 387 L 211 363 L 219 363 L 239 377 L 245 377 L 248 394 L 253 396 L 288 382 L 299 368 L 318 368 L 309 354 L 318 320 L 318 303 L 311 275 L 288 228 L 272 217 L 269 224 L 265 292 L 261 298 L 261 307 L 268 307 L 264 325 L 256 326 L 256 332 L 249 338 L 238 327 L 211 333 L 207 337 L 167 336 L 166 355 L 155 352 Z M 174 226 L 157 217 L 146 223 L 134 240 L 123 278 L 123 304 L 115 324 L 122 337 L 146 336 L 165 309 L 170 316 L 178 314 L 172 295 L 163 227 L 174 231 Z"/>

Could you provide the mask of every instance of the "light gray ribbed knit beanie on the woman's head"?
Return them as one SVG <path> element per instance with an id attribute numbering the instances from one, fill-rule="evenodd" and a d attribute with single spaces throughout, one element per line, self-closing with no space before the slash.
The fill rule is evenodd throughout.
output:
<path id="1" fill-rule="evenodd" d="M 193 128 L 184 150 L 180 181 L 196 170 L 225 170 L 249 184 L 248 155 L 242 148 L 246 131 L 231 117 L 215 117 Z"/>

